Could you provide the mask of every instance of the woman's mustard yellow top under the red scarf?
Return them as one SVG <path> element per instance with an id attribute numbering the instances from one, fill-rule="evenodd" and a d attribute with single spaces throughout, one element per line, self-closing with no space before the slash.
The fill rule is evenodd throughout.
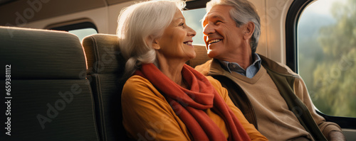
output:
<path id="1" fill-rule="evenodd" d="M 206 78 L 234 112 L 251 140 L 267 140 L 248 123 L 220 82 L 212 77 Z M 192 140 L 186 125 L 174 113 L 174 107 L 169 106 L 164 96 L 147 79 L 137 75 L 130 77 L 122 89 L 121 102 L 122 123 L 129 137 L 135 140 Z M 227 139 L 229 132 L 224 120 L 210 109 L 205 112 L 224 132 Z"/>

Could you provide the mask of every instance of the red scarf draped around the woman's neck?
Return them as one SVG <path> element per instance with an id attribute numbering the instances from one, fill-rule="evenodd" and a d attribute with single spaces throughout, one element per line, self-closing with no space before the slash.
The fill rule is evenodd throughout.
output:
<path id="1" fill-rule="evenodd" d="M 224 133 L 204 110 L 212 108 L 224 119 L 229 140 L 250 140 L 239 120 L 219 96 L 209 80 L 184 64 L 182 77 L 190 86 L 184 89 L 164 75 L 154 64 L 142 64 L 135 72 L 148 79 L 167 98 L 174 112 L 185 123 L 194 140 L 226 140 Z"/>

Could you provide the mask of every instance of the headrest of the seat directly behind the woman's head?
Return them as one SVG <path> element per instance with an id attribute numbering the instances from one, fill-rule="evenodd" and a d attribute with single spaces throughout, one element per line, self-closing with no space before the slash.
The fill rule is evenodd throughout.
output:
<path id="1" fill-rule="evenodd" d="M 94 34 L 83 39 L 88 74 L 122 74 L 125 59 L 120 54 L 116 35 Z"/>

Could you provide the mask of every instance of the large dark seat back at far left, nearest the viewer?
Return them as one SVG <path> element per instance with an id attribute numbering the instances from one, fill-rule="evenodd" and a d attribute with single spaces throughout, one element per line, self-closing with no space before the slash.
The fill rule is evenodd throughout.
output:
<path id="1" fill-rule="evenodd" d="M 0 106 L 6 111 L 0 120 L 9 123 L 1 128 L 1 140 L 99 140 L 90 84 L 80 75 L 85 56 L 75 35 L 0 27 L 0 43 L 0 81 L 9 87 L 1 90 L 7 103 Z"/>

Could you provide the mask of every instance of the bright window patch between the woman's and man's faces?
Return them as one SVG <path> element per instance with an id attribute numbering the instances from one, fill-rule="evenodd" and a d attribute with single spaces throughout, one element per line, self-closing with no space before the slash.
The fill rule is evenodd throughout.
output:
<path id="1" fill-rule="evenodd" d="M 183 11 L 187 25 L 197 32 L 197 35 L 193 38 L 194 45 L 205 45 L 203 40 L 203 27 L 201 26 L 201 19 L 203 19 L 205 13 L 205 8 Z"/>

